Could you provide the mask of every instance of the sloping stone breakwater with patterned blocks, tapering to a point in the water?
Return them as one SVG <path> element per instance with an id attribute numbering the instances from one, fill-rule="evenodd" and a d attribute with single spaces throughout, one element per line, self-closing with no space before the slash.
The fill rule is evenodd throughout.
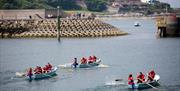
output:
<path id="1" fill-rule="evenodd" d="M 61 37 L 104 37 L 125 35 L 116 27 L 97 19 L 66 19 L 60 22 Z M 56 37 L 56 19 L 0 20 L 2 38 Z"/>

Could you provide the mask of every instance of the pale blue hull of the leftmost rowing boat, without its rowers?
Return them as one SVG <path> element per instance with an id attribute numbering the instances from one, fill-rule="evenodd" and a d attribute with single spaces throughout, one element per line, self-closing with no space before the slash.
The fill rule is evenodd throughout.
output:
<path id="1" fill-rule="evenodd" d="M 29 78 L 29 76 L 27 76 L 28 80 L 40 80 L 40 79 L 44 79 L 44 78 L 51 78 L 56 76 L 56 71 L 57 71 L 57 67 L 54 67 L 51 71 L 49 71 L 48 73 L 41 73 L 41 74 L 33 74 L 32 78 Z"/>

